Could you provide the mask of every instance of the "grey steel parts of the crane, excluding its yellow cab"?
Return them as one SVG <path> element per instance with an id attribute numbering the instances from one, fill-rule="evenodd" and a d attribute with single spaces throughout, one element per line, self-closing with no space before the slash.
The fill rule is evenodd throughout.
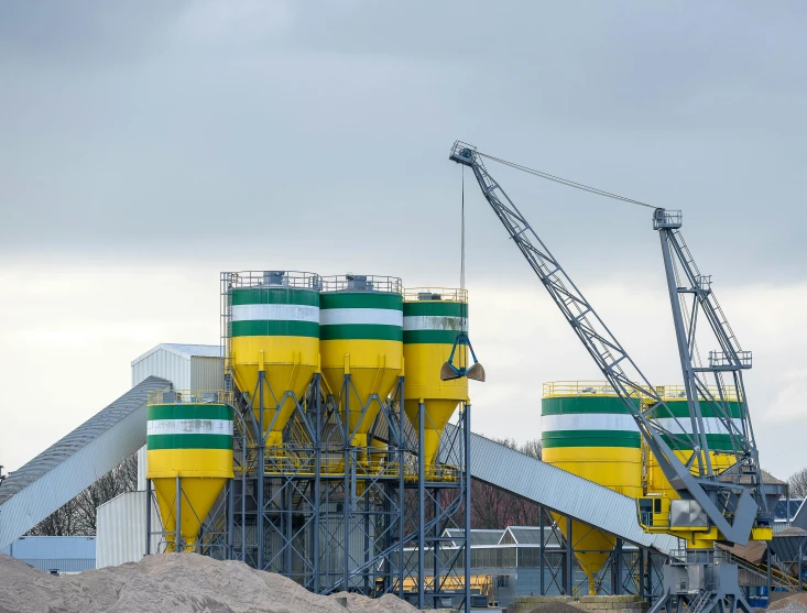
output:
<path id="1" fill-rule="evenodd" d="M 628 412 L 634 417 L 664 475 L 683 499 L 673 501 L 672 505 L 672 514 L 675 514 L 676 511 L 679 512 L 677 513 L 680 521 L 678 526 L 690 526 L 695 529 L 715 527 L 722 536 L 722 539 L 729 543 L 741 545 L 748 543 L 752 527 L 765 525 L 765 522 L 770 522 L 770 517 L 764 514 L 757 515 L 759 504 L 755 499 L 761 496 L 757 479 L 760 468 L 755 447 L 753 447 L 753 431 L 750 430 L 749 423 L 748 426 L 744 425 L 742 428 L 745 431 L 740 433 L 744 438 L 737 437 L 740 448 L 740 461 L 735 464 L 738 467 L 735 473 L 738 475 L 740 473 L 752 475 L 752 481 L 745 483 L 741 479 L 724 480 L 722 477 L 718 478 L 711 470 L 708 460 L 708 446 L 704 447 L 702 445 L 706 441 L 706 434 L 697 401 L 700 390 L 696 375 L 699 372 L 712 373 L 720 382 L 721 372 L 732 372 L 737 381 L 738 392 L 740 392 L 742 390 L 741 370 L 750 366 L 750 354 L 742 352 L 740 349 L 717 300 L 713 299 L 710 292 L 707 292 L 708 287 L 705 287 L 706 277 L 697 273 L 697 267 L 695 267 L 686 245 L 683 240 L 678 240 L 679 233 L 675 233 L 680 228 L 680 212 L 656 209 L 653 219 L 654 228 L 662 231 L 662 244 L 665 248 L 665 267 L 667 269 L 676 337 L 685 373 L 691 422 L 695 428 L 693 430 L 694 435 L 681 434 L 686 433 L 686 429 L 664 403 L 662 395 L 650 384 L 635 362 L 599 317 L 593 306 L 586 299 L 530 222 L 487 171 L 482 162 L 483 156 L 484 154 L 478 152 L 472 145 L 459 141 L 455 142 L 449 154 L 451 161 L 471 168 L 482 194 L 506 229 L 510 238 L 522 252 L 544 287 L 546 287 L 567 322 L 586 347 L 609 384 L 622 399 Z M 533 172 L 523 166 L 508 164 L 545 176 L 543 173 Z M 571 182 L 561 180 L 571 184 Z M 670 244 L 679 262 L 685 266 L 686 274 L 690 277 L 693 288 L 689 291 L 696 296 L 696 304 L 707 314 L 720 343 L 720 350 L 712 353 L 710 365 L 705 370 L 691 365 L 691 339 L 683 324 L 683 316 L 678 307 L 678 288 L 673 283 L 673 275 L 670 274 L 672 263 L 669 263 L 669 259 L 672 255 L 668 248 Z M 693 335 L 696 316 L 697 311 L 694 311 L 694 318 L 690 320 Z M 722 387 L 720 388 L 722 390 Z M 708 390 L 706 392 L 708 393 Z M 631 398 L 635 397 L 642 398 L 646 408 L 636 408 L 635 404 L 631 402 Z M 744 403 L 744 396 L 742 401 Z M 674 422 L 676 427 L 668 429 L 657 420 L 651 419 L 651 415 L 655 417 L 664 416 Z M 726 412 L 726 416 L 727 422 L 731 422 L 728 412 Z M 748 412 L 745 412 L 744 417 L 748 420 Z M 737 428 L 730 431 L 737 431 Z M 683 451 L 687 448 L 695 449 L 695 452 L 690 455 L 693 459 L 695 457 L 707 457 L 706 460 L 701 460 L 705 466 L 701 467 L 698 474 L 693 474 L 690 466 L 685 466 L 679 456 L 675 453 L 675 450 Z M 686 506 L 686 510 L 684 510 L 684 506 Z M 667 527 L 669 527 L 669 524 Z M 720 569 L 720 572 L 711 572 L 711 570 L 715 570 L 713 566 L 716 563 L 717 560 L 713 560 L 712 551 L 687 551 L 687 556 L 680 560 L 680 566 L 669 569 L 669 580 L 678 579 L 681 572 L 689 580 L 669 583 L 667 596 L 659 599 L 655 607 L 669 607 L 674 602 L 680 606 L 686 601 L 689 602 L 690 607 L 696 607 L 698 613 L 710 611 L 717 606 L 722 609 L 724 605 L 730 606 L 732 611 L 735 606 L 740 606 L 750 613 L 750 607 L 742 598 L 737 581 L 732 579 L 731 573 L 724 568 Z M 735 574 L 737 568 L 734 567 Z"/>

